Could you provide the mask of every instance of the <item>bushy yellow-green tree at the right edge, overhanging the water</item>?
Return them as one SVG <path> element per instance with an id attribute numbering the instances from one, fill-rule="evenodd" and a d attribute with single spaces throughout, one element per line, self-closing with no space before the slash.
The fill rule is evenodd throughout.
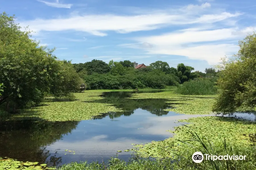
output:
<path id="1" fill-rule="evenodd" d="M 233 113 L 253 110 L 256 106 L 256 33 L 239 41 L 240 50 L 232 60 L 222 59 L 218 86 L 221 94 L 213 112 Z"/>

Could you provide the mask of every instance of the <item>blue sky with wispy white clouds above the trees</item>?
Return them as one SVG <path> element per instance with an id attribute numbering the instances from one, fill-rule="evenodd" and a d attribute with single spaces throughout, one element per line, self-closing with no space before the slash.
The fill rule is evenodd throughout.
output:
<path id="1" fill-rule="evenodd" d="M 72 63 L 161 60 L 204 71 L 256 30 L 254 0 L 9 0 L 4 11 Z"/>

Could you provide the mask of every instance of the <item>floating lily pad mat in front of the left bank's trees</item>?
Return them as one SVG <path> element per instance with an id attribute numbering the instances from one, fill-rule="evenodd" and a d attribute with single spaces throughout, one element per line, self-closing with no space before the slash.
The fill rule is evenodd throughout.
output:
<path id="1" fill-rule="evenodd" d="M 21 114 L 14 114 L 9 119 L 28 119 L 38 117 L 48 121 L 80 121 L 90 120 L 93 116 L 106 112 L 120 112 L 112 104 L 86 102 L 100 100 L 101 92 L 97 90 L 75 93 L 75 101 L 61 101 L 49 98 L 44 100 L 41 106 L 23 109 Z"/>

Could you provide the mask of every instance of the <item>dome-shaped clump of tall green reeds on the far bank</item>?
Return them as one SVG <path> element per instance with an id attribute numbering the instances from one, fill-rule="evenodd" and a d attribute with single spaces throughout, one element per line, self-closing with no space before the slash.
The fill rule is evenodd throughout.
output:
<path id="1" fill-rule="evenodd" d="M 213 82 L 203 79 L 184 82 L 176 90 L 176 93 L 184 95 L 213 95 L 217 94 L 217 92 L 217 87 Z"/>

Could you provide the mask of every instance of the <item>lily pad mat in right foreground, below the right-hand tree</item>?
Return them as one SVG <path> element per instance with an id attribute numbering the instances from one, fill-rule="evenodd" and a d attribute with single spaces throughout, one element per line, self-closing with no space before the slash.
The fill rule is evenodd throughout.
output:
<path id="1" fill-rule="evenodd" d="M 227 143 L 241 148 L 255 144 L 255 139 L 253 140 L 249 137 L 249 134 L 255 134 L 256 123 L 254 121 L 238 120 L 230 117 L 206 116 L 179 120 L 179 122 L 178 124 L 182 124 L 181 122 L 190 123 L 187 127 L 193 129 L 193 132 L 200 134 L 199 136 L 201 138 L 211 141 L 215 146 L 222 145 L 223 139 Z M 168 131 L 173 133 L 174 136 L 164 141 L 152 141 L 143 146 L 135 145 L 135 147 L 139 147 L 138 153 L 143 157 L 153 156 L 161 158 L 175 156 L 176 152 L 174 150 L 186 150 L 184 148 L 185 145 L 180 141 L 186 141 L 192 137 L 191 133 L 187 131 L 187 128 L 185 126 L 177 126 L 174 127 L 174 130 Z"/>

